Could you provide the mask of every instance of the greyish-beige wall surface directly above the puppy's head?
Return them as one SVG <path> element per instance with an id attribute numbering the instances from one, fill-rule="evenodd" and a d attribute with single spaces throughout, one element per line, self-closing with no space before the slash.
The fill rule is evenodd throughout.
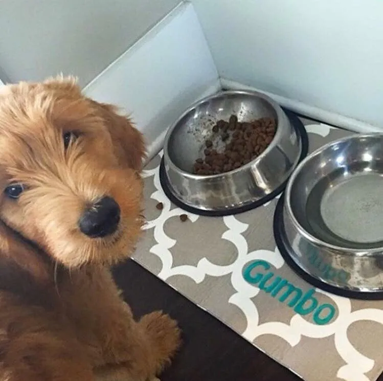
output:
<path id="1" fill-rule="evenodd" d="M 2 0 L 0 78 L 59 72 L 85 85 L 179 0 Z"/>

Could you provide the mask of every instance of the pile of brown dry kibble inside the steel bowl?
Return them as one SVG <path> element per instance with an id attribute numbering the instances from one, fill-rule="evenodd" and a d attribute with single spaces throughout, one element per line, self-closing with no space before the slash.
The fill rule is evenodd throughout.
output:
<path id="1" fill-rule="evenodd" d="M 205 141 L 205 159 L 195 161 L 193 173 L 224 173 L 250 163 L 272 142 L 276 129 L 276 121 L 272 118 L 239 122 L 237 116 L 232 115 L 228 122 L 219 120 L 212 128 L 212 136 Z M 214 142 L 219 141 L 223 142 L 223 149 L 214 148 Z"/>

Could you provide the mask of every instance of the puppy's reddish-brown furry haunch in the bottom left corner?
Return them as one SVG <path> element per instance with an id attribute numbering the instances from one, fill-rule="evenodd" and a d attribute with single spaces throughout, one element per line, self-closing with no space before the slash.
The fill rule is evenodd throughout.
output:
<path id="1" fill-rule="evenodd" d="M 41 307 L 0 294 L 0 379 L 94 381 L 90 362 L 71 329 Z"/>

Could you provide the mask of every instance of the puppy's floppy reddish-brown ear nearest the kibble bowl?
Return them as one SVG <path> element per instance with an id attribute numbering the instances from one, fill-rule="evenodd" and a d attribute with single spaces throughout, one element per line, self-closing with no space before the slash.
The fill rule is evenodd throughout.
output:
<path id="1" fill-rule="evenodd" d="M 132 125 L 129 118 L 118 114 L 117 107 L 90 101 L 106 122 L 120 165 L 141 171 L 142 162 L 146 158 L 142 133 Z"/>

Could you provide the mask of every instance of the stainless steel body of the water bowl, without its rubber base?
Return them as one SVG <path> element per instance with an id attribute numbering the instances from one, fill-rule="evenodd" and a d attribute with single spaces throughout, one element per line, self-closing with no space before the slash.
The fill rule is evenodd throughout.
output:
<path id="1" fill-rule="evenodd" d="M 329 143 L 289 178 L 283 225 L 310 277 L 359 293 L 383 290 L 383 134 Z"/>

